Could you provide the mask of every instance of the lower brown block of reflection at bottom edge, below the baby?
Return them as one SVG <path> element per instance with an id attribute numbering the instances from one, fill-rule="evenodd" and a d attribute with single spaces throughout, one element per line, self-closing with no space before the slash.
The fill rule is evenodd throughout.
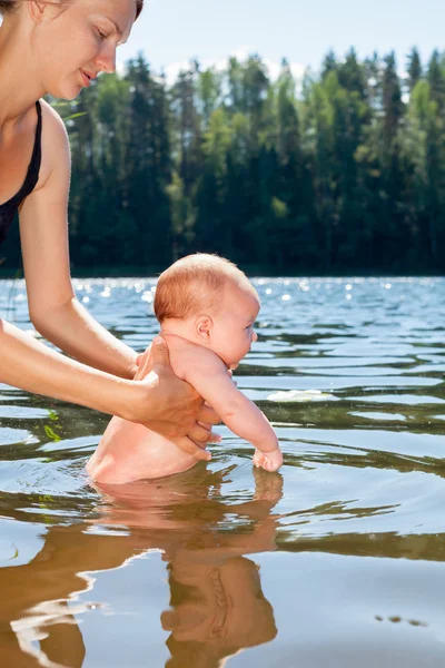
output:
<path id="1" fill-rule="evenodd" d="M 240 649 L 273 640 L 273 608 L 265 598 L 257 564 L 246 557 L 192 564 L 169 564 L 171 609 L 161 617 L 171 631 L 166 666 L 217 668 Z"/>

